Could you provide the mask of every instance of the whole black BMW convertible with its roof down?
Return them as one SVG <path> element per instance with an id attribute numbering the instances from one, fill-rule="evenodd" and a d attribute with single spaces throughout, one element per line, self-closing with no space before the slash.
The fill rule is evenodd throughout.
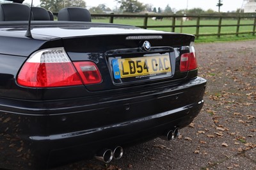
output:
<path id="1" fill-rule="evenodd" d="M 1 168 L 108 163 L 172 140 L 202 109 L 193 35 L 93 23 L 84 8 L 57 21 L 20 3 L 0 4 Z"/>

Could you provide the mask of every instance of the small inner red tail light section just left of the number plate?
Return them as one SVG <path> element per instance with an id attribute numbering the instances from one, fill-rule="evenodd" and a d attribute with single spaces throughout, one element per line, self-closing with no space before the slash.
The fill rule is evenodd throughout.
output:
<path id="1" fill-rule="evenodd" d="M 91 61 L 74 62 L 84 84 L 97 84 L 102 81 L 100 72 L 95 63 Z"/>

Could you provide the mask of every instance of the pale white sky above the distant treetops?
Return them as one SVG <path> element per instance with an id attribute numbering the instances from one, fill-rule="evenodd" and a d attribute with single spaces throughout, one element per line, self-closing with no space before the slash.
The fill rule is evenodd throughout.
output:
<path id="1" fill-rule="evenodd" d="M 68 1 L 68 0 L 66 0 Z M 175 10 L 182 10 L 191 8 L 202 8 L 203 10 L 212 9 L 218 11 L 218 0 L 138 0 L 143 4 L 152 4 L 156 8 L 164 8 L 167 4 Z M 241 8 L 244 0 L 222 0 L 223 6 L 221 6 L 221 12 L 236 11 L 237 8 Z M 26 3 L 31 3 L 31 0 L 25 0 Z M 117 3 L 115 0 L 85 0 L 87 8 L 98 6 L 99 4 L 106 4 L 111 9 L 115 9 Z M 40 4 L 40 0 L 34 0 L 35 5 Z"/>

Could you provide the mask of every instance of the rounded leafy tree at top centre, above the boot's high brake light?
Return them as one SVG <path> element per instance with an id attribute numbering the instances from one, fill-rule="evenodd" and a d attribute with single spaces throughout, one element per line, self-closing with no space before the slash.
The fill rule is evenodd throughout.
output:
<path id="1" fill-rule="evenodd" d="M 145 10 L 146 6 L 137 0 L 116 0 L 120 3 L 120 9 L 128 13 L 138 13 Z"/>

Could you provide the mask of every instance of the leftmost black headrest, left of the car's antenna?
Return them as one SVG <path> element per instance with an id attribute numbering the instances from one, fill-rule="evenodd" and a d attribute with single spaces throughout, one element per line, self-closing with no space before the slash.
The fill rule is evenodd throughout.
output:
<path id="1" fill-rule="evenodd" d="M 30 8 L 25 4 L 0 4 L 0 21 L 28 20 Z M 33 17 L 33 16 L 32 16 Z"/>

